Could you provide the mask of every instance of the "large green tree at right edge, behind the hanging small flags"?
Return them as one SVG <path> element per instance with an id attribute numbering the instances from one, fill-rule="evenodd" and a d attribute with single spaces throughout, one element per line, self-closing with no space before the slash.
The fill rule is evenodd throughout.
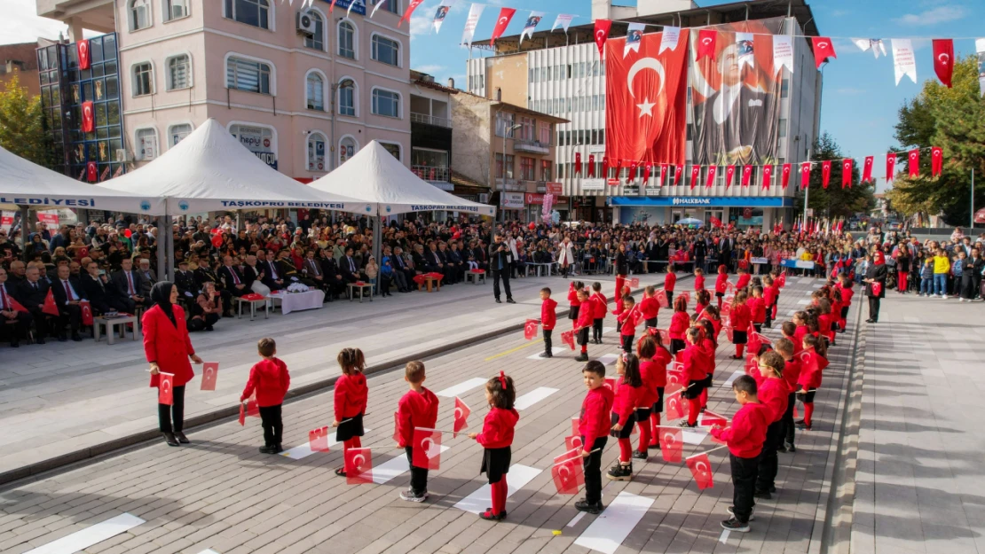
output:
<path id="1" fill-rule="evenodd" d="M 905 215 L 943 215 L 950 225 L 968 222 L 971 170 L 985 176 L 985 103 L 980 98 L 978 63 L 974 56 L 954 65 L 952 89 L 935 80 L 899 109 L 895 138 L 900 165 L 906 151 L 940 147 L 944 167 L 931 176 L 931 154 L 920 152 L 920 176 L 905 171 L 896 175 L 890 193 L 893 208 Z M 975 205 L 985 204 L 985 191 L 975 194 Z"/>

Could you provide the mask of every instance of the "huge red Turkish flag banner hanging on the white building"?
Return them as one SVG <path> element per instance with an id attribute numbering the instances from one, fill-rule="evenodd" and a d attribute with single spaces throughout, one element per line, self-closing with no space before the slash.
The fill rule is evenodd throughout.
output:
<path id="1" fill-rule="evenodd" d="M 643 162 L 685 162 L 688 30 L 658 53 L 662 33 L 644 34 L 624 56 L 625 38 L 606 43 L 606 155 Z"/>

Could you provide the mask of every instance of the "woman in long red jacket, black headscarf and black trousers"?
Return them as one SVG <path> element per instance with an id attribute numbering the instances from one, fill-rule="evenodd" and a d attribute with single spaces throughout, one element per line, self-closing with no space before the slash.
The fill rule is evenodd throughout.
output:
<path id="1" fill-rule="evenodd" d="M 171 405 L 158 403 L 158 421 L 164 442 L 176 447 L 179 442 L 189 442 L 181 432 L 184 427 L 184 386 L 195 377 L 188 360 L 200 364 L 202 358 L 195 354 L 188 338 L 184 310 L 177 304 L 178 287 L 166 280 L 158 282 L 151 289 L 151 301 L 154 307 L 145 312 L 141 320 L 144 354 L 151 364 L 151 387 L 160 386 L 160 373 L 174 375 L 173 401 Z"/>

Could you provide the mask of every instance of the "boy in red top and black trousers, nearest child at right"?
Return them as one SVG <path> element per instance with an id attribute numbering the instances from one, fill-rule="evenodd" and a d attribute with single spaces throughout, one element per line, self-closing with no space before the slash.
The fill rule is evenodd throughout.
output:
<path id="1" fill-rule="evenodd" d="M 759 453 L 766 440 L 769 408 L 756 398 L 755 380 L 743 375 L 732 384 L 736 401 L 742 406 L 732 416 L 726 428 L 711 428 L 711 436 L 725 441 L 732 462 L 732 518 L 722 522 L 727 530 L 749 532 L 749 521 L 755 507 L 755 479 L 759 468 Z"/>

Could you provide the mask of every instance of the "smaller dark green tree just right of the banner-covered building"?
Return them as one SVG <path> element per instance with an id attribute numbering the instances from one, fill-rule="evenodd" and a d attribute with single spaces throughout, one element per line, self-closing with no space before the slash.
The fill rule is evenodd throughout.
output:
<path id="1" fill-rule="evenodd" d="M 811 189 L 808 196 L 808 208 L 814 210 L 817 217 L 851 217 L 859 213 L 868 213 L 876 205 L 875 185 L 860 182 L 859 163 L 852 161 L 851 186 L 841 188 L 842 159 L 845 154 L 827 133 L 821 135 L 814 145 L 814 155 L 811 168 Z M 831 177 L 828 186 L 823 186 L 821 162 L 831 161 Z M 799 199 L 800 211 L 803 210 L 804 200 Z"/>

